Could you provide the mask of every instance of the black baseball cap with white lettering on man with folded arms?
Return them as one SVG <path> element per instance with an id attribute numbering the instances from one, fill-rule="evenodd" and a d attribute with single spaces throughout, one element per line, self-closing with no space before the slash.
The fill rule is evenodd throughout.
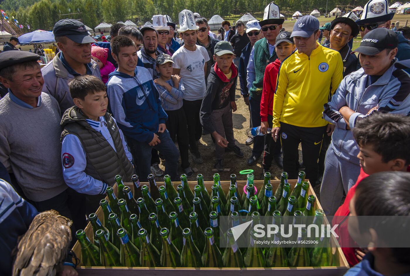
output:
<path id="1" fill-rule="evenodd" d="M 353 52 L 372 56 L 385 49 L 394 49 L 399 44 L 396 33 L 387 28 L 377 28 L 368 32 Z"/>

